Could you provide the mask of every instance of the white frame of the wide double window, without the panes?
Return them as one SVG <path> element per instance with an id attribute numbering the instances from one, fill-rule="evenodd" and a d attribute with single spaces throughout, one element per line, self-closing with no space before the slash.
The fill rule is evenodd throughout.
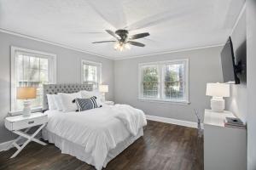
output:
<path id="1" fill-rule="evenodd" d="M 185 97 L 184 100 L 177 99 L 166 99 L 164 97 L 164 89 L 165 89 L 165 65 L 175 65 L 181 62 L 185 63 Z M 142 71 L 143 66 L 156 65 L 159 71 L 160 84 L 159 84 L 159 93 L 158 98 L 145 98 L 143 97 L 143 86 L 142 86 Z M 148 63 L 140 63 L 138 65 L 138 99 L 141 101 L 149 101 L 149 102 L 159 102 L 159 103 L 173 103 L 173 104 L 181 104 L 187 105 L 189 104 L 189 59 L 172 59 L 172 60 L 164 60 L 164 61 L 156 61 L 156 62 L 148 62 Z"/>

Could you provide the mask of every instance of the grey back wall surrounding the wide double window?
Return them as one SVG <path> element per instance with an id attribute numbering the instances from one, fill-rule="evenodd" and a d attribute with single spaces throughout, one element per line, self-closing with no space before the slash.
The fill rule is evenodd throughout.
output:
<path id="1" fill-rule="evenodd" d="M 152 116 L 163 116 L 195 122 L 193 108 L 201 117 L 209 108 L 210 97 L 206 96 L 207 82 L 223 82 L 220 50 L 222 47 L 203 48 L 180 53 L 159 54 L 137 59 L 114 62 L 114 94 L 116 103 L 133 105 Z M 189 59 L 189 101 L 190 105 L 157 103 L 138 99 L 138 64 L 171 59 Z"/>

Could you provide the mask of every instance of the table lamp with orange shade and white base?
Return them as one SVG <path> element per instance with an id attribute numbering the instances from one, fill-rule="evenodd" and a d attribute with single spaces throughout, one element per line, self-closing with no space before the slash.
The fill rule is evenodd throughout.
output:
<path id="1" fill-rule="evenodd" d="M 36 99 L 37 97 L 37 88 L 32 87 L 19 87 L 17 88 L 17 96 L 16 99 L 24 99 L 24 108 L 23 108 L 23 116 L 31 115 L 31 101 L 30 99 Z"/>

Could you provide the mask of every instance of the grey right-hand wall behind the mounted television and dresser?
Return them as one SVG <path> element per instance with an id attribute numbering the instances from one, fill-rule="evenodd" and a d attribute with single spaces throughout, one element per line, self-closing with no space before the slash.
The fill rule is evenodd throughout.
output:
<path id="1" fill-rule="evenodd" d="M 246 58 L 247 26 L 246 11 L 241 14 L 241 18 L 231 35 L 233 48 L 237 59 Z M 230 85 L 230 98 L 227 98 L 226 108 L 240 117 L 243 122 L 247 120 L 247 84 L 246 77 L 241 77 L 241 84 Z"/>

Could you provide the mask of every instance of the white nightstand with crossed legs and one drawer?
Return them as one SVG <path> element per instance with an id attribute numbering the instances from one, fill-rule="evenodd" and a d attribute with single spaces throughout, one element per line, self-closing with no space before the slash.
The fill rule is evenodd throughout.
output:
<path id="1" fill-rule="evenodd" d="M 23 150 L 27 144 L 29 144 L 31 141 L 37 142 L 38 144 L 45 145 L 44 142 L 40 141 L 39 139 L 36 139 L 36 135 L 45 127 L 46 123 L 48 122 L 48 116 L 44 113 L 32 113 L 31 116 L 9 116 L 5 118 L 5 127 L 9 129 L 9 131 L 12 131 L 15 134 L 18 134 L 19 137 L 15 139 L 15 141 L 12 143 L 17 148 L 17 151 L 13 156 L 10 158 L 13 158 L 17 156 L 21 150 Z M 32 135 L 28 134 L 27 132 L 31 127 L 35 127 L 41 125 L 38 127 L 35 133 L 32 133 Z M 25 131 L 21 131 L 21 129 L 26 129 Z M 17 144 L 17 142 L 21 138 L 27 139 L 24 144 L 21 146 Z"/>

